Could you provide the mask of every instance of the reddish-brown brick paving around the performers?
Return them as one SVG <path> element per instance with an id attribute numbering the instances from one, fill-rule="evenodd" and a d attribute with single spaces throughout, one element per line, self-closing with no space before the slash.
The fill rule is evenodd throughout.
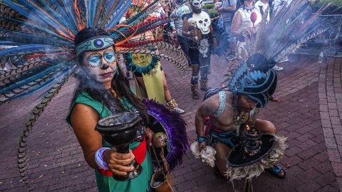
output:
<path id="1" fill-rule="evenodd" d="M 317 60 L 293 55 L 290 62 L 281 63 L 284 70 L 278 73 L 276 91 L 281 102 L 269 103 L 260 118 L 274 122 L 278 133 L 288 138 L 289 148 L 280 162 L 287 177 L 261 174 L 253 179 L 254 191 L 342 191 L 342 58 L 328 58 L 321 64 Z M 222 80 L 227 63 L 214 56 L 212 65 L 210 85 L 214 86 Z M 192 142 L 200 100 L 190 97 L 190 74 L 180 76 L 172 65 L 163 68 L 173 97 L 187 111 L 183 117 Z M 97 191 L 93 170 L 64 121 L 75 83 L 70 80 L 66 84 L 28 137 L 28 180 L 35 191 Z M 16 153 L 26 114 L 36 102 L 28 97 L 0 106 L 0 191 L 27 191 L 19 176 Z M 234 191 L 232 183 L 214 175 L 190 153 L 172 175 L 177 191 Z M 244 181 L 236 181 L 234 186 L 242 191 Z"/>

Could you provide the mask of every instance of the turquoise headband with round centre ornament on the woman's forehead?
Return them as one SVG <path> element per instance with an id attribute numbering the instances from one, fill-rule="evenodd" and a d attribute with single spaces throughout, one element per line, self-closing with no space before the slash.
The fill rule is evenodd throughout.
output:
<path id="1" fill-rule="evenodd" d="M 110 36 L 97 36 L 84 41 L 80 45 L 76 46 L 76 55 L 80 55 L 84 51 L 88 50 L 103 50 L 114 45 L 113 38 Z"/>

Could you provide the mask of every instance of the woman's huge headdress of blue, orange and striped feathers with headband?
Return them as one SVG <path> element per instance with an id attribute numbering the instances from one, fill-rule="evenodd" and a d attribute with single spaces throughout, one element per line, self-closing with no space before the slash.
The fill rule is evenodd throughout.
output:
<path id="1" fill-rule="evenodd" d="M 115 45 L 117 53 L 157 55 L 181 70 L 187 65 L 184 53 L 162 39 L 134 38 L 168 21 L 152 14 L 160 6 L 158 1 L 134 0 L 134 3 L 134 6 L 133 0 L 3 0 L 0 3 L 0 48 L 3 48 L 0 63 L 14 66 L 0 72 L 0 104 L 43 88 L 47 90 L 32 110 L 19 142 L 19 171 L 26 186 L 28 132 L 48 102 L 78 71 L 79 53 Z M 135 14 L 119 24 L 129 8 Z M 73 43 L 76 34 L 89 27 L 103 28 L 110 37 L 98 37 L 76 49 Z"/>

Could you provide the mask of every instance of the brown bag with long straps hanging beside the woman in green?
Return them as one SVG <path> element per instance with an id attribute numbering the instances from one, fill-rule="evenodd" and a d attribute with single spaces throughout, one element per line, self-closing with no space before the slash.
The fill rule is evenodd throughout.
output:
<path id="1" fill-rule="evenodd" d="M 162 158 L 164 169 L 160 165 L 160 161 L 158 160 L 157 154 L 155 152 L 155 148 L 153 146 L 152 146 L 152 151 L 153 151 L 153 154 L 155 155 L 155 159 L 157 159 L 157 164 L 160 170 L 152 174 L 152 178 L 150 181 L 150 188 L 152 188 L 152 190 L 155 192 L 173 192 L 171 174 L 169 172 L 170 166 L 169 164 L 167 164 L 167 161 L 165 159 L 164 149 L 161 148 L 160 150 L 160 156 Z"/>

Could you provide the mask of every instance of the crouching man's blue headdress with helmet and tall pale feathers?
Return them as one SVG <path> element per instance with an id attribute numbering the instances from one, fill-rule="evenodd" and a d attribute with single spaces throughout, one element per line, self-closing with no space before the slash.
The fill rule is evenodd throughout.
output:
<path id="1" fill-rule="evenodd" d="M 257 107 L 264 107 L 276 88 L 276 73 L 271 69 L 275 60 L 294 53 L 303 43 L 324 31 L 319 25 L 313 25 L 323 9 L 311 15 L 306 0 L 293 0 L 289 6 L 284 4 L 266 23 L 268 11 L 256 34 L 242 31 L 245 45 L 238 50 L 240 60 L 234 60 L 227 70 L 225 82 L 232 92 L 257 101 Z"/>

